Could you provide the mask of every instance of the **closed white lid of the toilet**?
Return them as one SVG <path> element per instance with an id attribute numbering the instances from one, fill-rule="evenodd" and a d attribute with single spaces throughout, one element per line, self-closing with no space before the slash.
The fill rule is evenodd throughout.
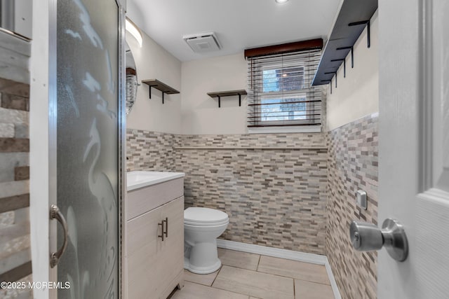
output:
<path id="1" fill-rule="evenodd" d="M 229 217 L 217 209 L 190 207 L 184 211 L 184 223 L 192 225 L 220 225 L 227 223 Z"/>

